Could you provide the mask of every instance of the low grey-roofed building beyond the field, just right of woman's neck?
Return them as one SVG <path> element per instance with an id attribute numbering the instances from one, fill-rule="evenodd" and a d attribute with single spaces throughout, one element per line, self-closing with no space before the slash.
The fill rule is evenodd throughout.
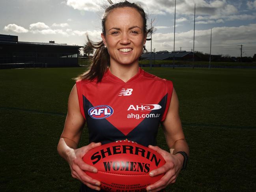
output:
<path id="1" fill-rule="evenodd" d="M 155 56 L 154 53 L 152 52 L 152 59 L 155 58 L 155 60 L 166 60 L 168 58 L 182 58 L 186 56 L 187 54 L 191 54 L 192 52 L 187 52 L 187 51 L 175 51 L 175 52 L 156 52 Z M 144 53 L 142 54 L 141 58 L 145 60 L 150 59 L 150 53 Z"/>

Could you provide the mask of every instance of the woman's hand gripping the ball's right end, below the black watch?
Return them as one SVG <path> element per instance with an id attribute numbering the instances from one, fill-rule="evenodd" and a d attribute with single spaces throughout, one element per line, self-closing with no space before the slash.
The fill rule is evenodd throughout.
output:
<path id="1" fill-rule="evenodd" d="M 147 191 L 157 192 L 165 188 L 170 183 L 175 183 L 176 178 L 179 175 L 179 171 L 183 166 L 183 156 L 181 154 L 172 155 L 157 146 L 149 145 L 148 147 L 157 151 L 160 155 L 163 156 L 164 160 L 166 161 L 166 164 L 164 164 L 162 167 L 149 173 L 149 176 L 151 177 L 165 173 L 159 181 L 147 187 Z"/>

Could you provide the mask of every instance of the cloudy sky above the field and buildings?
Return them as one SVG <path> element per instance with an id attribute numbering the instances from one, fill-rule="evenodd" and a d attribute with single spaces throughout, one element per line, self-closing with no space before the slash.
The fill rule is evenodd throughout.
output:
<path id="1" fill-rule="evenodd" d="M 120 0 L 112 0 L 120 2 Z M 174 0 L 130 0 L 148 14 L 154 27 L 152 50 L 174 50 Z M 196 4 L 195 37 L 194 6 Z M 107 0 L 0 0 L 0 34 L 19 41 L 84 45 L 86 34 L 101 41 L 101 16 Z M 256 0 L 176 0 L 175 50 L 223 56 L 256 54 Z M 193 41 L 193 38 L 195 40 Z M 194 43 L 193 43 L 194 42 Z M 146 48 L 151 50 L 150 41 Z"/>

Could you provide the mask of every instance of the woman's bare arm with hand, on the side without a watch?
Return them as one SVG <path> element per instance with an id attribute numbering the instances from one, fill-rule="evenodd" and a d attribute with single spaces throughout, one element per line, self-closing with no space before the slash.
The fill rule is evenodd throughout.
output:
<path id="1" fill-rule="evenodd" d="M 100 190 L 100 182 L 89 177 L 84 171 L 91 171 L 96 173 L 97 169 L 83 162 L 82 157 L 86 153 L 101 143 L 91 143 L 84 147 L 77 148 L 82 129 L 84 127 L 85 119 L 80 113 L 77 87 L 76 85 L 71 90 L 68 101 L 68 111 L 65 120 L 64 130 L 60 136 L 57 151 L 68 163 L 71 170 L 72 177 L 79 179 L 88 187 Z"/>

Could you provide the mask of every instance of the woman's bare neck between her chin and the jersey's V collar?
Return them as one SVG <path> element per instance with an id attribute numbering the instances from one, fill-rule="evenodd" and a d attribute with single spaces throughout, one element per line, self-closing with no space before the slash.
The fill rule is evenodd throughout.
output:
<path id="1" fill-rule="evenodd" d="M 123 82 L 127 82 L 138 73 L 138 65 L 119 65 L 118 67 L 110 64 L 109 71 Z"/>

